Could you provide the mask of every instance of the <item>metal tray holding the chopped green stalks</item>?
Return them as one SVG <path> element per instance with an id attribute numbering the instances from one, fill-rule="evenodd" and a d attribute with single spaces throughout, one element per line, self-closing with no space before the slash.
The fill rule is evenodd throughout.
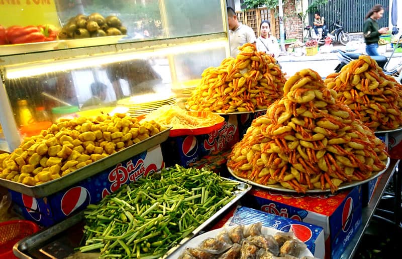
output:
<path id="1" fill-rule="evenodd" d="M 210 217 L 204 223 L 200 224 L 197 228 L 195 228 L 188 236 L 184 237 L 179 242 L 179 244 L 177 244 L 176 246 L 172 247 L 169 251 L 167 251 L 162 258 L 173 259 L 173 257 L 170 255 L 176 249 L 178 249 L 181 245 L 183 245 L 192 237 L 197 235 L 200 231 L 206 228 L 220 215 L 226 212 L 252 187 L 251 185 L 241 181 L 232 180 L 224 177 L 222 178 L 225 180 L 239 183 L 239 185 L 237 186 L 237 190 L 234 192 L 235 197 L 228 204 L 226 204 L 220 210 L 218 210 L 212 217 Z M 17 255 L 19 258 L 49 258 L 49 257 L 64 258 L 69 254 L 74 253 L 75 252 L 74 248 L 79 246 L 81 236 L 79 236 L 78 234 L 79 233 L 82 234 L 83 220 L 84 220 L 84 211 L 81 211 L 54 226 L 36 232 L 35 234 L 18 241 L 13 247 L 14 254 Z M 58 251 L 59 253 L 58 256 L 55 255 L 53 252 L 50 252 L 50 250 L 52 250 L 51 248 L 53 248 L 54 250 L 55 246 L 60 247 L 60 250 Z M 93 255 L 93 253 L 90 254 Z M 85 256 L 82 255 L 83 254 L 81 254 L 81 256 L 77 256 L 77 258 L 78 257 L 85 258 Z M 95 253 L 95 257 L 97 257 L 96 255 L 99 254 Z M 90 256 L 90 258 L 92 258 L 92 256 Z"/>

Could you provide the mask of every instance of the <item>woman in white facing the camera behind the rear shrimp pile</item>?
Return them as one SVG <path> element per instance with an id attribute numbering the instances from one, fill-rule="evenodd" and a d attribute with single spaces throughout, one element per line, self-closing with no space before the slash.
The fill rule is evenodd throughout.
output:
<path id="1" fill-rule="evenodd" d="M 266 20 L 260 24 L 261 37 L 257 39 L 257 50 L 265 52 L 274 58 L 279 56 L 278 41 L 270 34 L 270 23 Z"/>

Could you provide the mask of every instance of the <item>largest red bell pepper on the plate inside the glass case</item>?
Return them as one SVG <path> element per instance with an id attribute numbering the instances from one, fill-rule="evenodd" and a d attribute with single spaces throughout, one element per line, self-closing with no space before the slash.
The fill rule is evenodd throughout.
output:
<path id="1" fill-rule="evenodd" d="M 45 36 L 36 26 L 12 26 L 6 30 L 6 39 L 11 44 L 44 42 Z"/>

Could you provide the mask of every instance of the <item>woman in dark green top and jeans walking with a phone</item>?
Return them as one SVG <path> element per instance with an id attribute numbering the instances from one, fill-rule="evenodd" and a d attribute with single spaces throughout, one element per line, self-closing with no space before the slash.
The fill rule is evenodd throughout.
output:
<path id="1" fill-rule="evenodd" d="M 387 27 L 379 29 L 377 20 L 384 14 L 384 8 L 381 5 L 375 5 L 367 13 L 364 18 L 363 36 L 366 43 L 366 53 L 369 56 L 379 56 L 378 54 L 378 41 L 381 34 L 388 32 Z"/>

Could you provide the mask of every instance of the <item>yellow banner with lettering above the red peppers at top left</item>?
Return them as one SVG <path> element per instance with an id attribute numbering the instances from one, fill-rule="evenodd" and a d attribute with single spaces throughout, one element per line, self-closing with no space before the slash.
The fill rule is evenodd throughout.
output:
<path id="1" fill-rule="evenodd" d="M 54 0 L 0 0 L 0 25 L 60 27 Z"/>

